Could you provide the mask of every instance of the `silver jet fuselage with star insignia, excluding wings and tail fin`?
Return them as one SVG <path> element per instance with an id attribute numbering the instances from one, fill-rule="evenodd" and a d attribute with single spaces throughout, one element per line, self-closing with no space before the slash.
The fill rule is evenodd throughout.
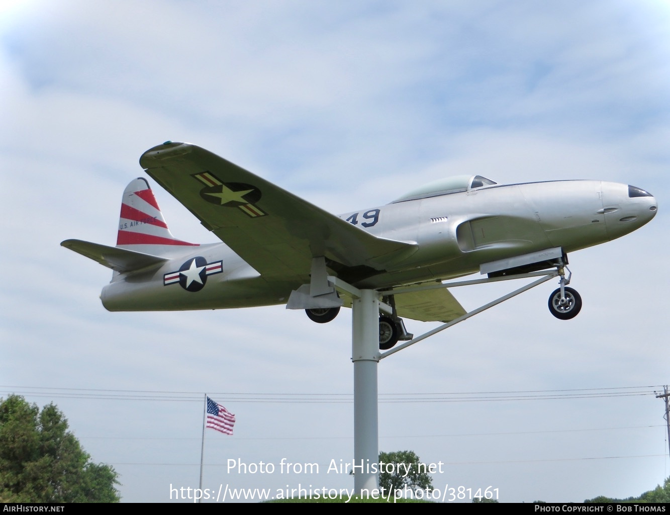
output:
<path id="1" fill-rule="evenodd" d="M 564 180 L 436 194 L 340 218 L 377 237 L 417 244 L 411 255 L 391 257 L 383 270 L 350 281 L 358 288 L 379 289 L 464 276 L 478 272 L 482 264 L 551 247 L 567 253 L 604 243 L 645 225 L 656 209 L 651 194 L 627 184 Z M 161 266 L 115 272 L 100 296 L 105 308 L 283 304 L 291 290 L 310 282 L 308 274 L 261 276 L 224 243 L 165 252 L 170 260 Z"/>

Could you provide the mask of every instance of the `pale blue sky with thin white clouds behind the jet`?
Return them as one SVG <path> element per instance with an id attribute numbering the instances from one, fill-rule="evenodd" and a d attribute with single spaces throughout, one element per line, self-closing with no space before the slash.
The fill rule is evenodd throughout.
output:
<path id="1" fill-rule="evenodd" d="M 654 194 L 651 223 L 569 256 L 572 321 L 547 311 L 550 282 L 384 359 L 379 447 L 501 502 L 638 496 L 670 475 L 667 0 L 4 1 L 0 90 L 0 396 L 57 404 L 123 501 L 198 487 L 205 393 L 237 422 L 206 432 L 203 488 L 353 488 L 328 472 L 353 458 L 348 310 L 107 312 L 111 271 L 59 246 L 113 245 L 139 156 L 167 139 L 333 213 L 458 174 Z M 149 184 L 176 237 L 217 241 Z M 472 309 L 510 289 L 452 292 Z M 228 467 L 261 461 L 275 471 Z"/>

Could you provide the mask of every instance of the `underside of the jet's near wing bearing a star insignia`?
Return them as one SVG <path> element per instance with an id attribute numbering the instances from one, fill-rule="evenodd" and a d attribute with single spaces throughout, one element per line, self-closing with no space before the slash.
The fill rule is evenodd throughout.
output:
<path id="1" fill-rule="evenodd" d="M 385 270 L 415 243 L 375 237 L 267 180 L 194 145 L 147 150 L 141 166 L 204 227 L 266 278 L 301 278 L 312 258 Z"/>

